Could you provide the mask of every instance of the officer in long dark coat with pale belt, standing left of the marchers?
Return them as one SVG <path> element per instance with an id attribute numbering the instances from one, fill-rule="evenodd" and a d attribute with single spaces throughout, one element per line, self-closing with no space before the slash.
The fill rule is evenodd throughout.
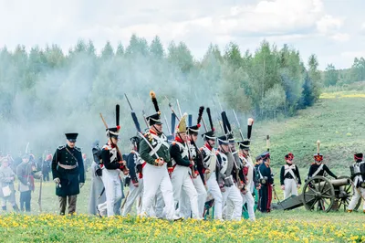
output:
<path id="1" fill-rule="evenodd" d="M 85 171 L 81 149 L 75 146 L 78 133 L 66 133 L 67 144 L 57 148 L 52 160 L 53 181 L 59 200 L 59 214 L 65 215 L 68 199 L 68 214 L 76 211 L 79 189 L 85 183 Z"/>

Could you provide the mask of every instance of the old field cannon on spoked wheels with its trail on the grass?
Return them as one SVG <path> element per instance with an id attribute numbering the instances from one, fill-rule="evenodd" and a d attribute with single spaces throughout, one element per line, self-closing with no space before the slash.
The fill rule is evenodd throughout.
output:
<path id="1" fill-rule="evenodd" d="M 328 180 L 324 176 L 314 176 L 303 186 L 301 195 L 292 195 L 286 200 L 273 204 L 274 209 L 291 210 L 305 206 L 307 210 L 339 211 L 341 207 L 346 211 L 352 197 L 353 183 L 349 176 L 339 176 L 338 179 Z M 354 210 L 360 206 L 361 200 Z"/>

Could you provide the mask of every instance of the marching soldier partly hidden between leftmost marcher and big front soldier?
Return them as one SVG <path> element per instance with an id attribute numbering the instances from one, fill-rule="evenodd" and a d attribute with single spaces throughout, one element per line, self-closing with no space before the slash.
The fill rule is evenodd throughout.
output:
<path id="1" fill-rule="evenodd" d="M 145 163 L 141 160 L 139 144 L 141 137 L 133 136 L 130 138 L 132 149 L 127 157 L 127 166 L 130 170 L 130 192 L 128 193 L 122 216 L 125 217 L 130 213 L 131 206 L 137 200 L 137 215 L 141 214 L 141 197 L 143 195 L 143 174 L 142 168 Z"/>

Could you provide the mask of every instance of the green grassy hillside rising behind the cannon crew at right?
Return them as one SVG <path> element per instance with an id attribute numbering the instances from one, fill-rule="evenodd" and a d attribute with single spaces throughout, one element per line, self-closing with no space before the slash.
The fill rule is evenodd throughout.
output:
<path id="1" fill-rule="evenodd" d="M 257 122 L 252 135 L 254 154 L 266 150 L 270 135 L 272 164 L 284 163 L 284 155 L 295 154 L 300 167 L 308 167 L 317 153 L 317 141 L 324 162 L 348 167 L 353 153 L 365 152 L 365 91 L 323 93 L 318 102 L 286 121 Z"/>

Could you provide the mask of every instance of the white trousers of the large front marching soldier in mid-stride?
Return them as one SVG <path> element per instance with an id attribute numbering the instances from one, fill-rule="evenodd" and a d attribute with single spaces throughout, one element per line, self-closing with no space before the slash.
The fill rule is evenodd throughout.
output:
<path id="1" fill-rule="evenodd" d="M 163 215 L 169 220 L 174 219 L 172 183 L 167 172 L 167 164 L 162 166 L 146 164 L 143 168 L 143 180 L 144 191 L 141 215 L 149 215 L 155 196 L 158 190 L 161 190 L 165 204 Z"/>

